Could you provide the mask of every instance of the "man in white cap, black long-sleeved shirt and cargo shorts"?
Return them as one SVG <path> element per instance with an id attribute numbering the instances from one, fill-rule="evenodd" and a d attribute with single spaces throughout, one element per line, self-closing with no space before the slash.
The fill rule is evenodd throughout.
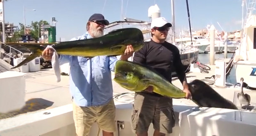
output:
<path id="1" fill-rule="evenodd" d="M 160 17 L 151 22 L 150 41 L 145 42 L 142 49 L 134 53 L 133 62 L 148 65 L 165 79 L 172 82 L 172 66 L 174 67 L 180 82 L 183 85 L 183 92 L 186 99 L 191 97 L 188 90 L 186 74 L 180 59 L 179 49 L 169 42 L 166 42 L 169 28 L 172 27 L 165 18 Z M 132 130 L 137 135 L 148 135 L 148 127 L 153 123 L 155 135 L 164 136 L 172 133 L 175 125 L 175 117 L 172 108 L 172 98 L 156 94 L 153 87 L 146 91 L 135 93 L 132 109 Z"/>

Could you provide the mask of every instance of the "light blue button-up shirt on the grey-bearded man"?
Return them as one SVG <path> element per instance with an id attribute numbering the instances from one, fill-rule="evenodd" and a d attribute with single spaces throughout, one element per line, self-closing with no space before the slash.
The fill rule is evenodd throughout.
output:
<path id="1" fill-rule="evenodd" d="M 90 39 L 86 32 L 70 41 Z M 108 103 L 113 97 L 111 71 L 114 71 L 116 57 L 86 57 L 60 55 L 60 64 L 70 64 L 69 89 L 79 106 L 98 106 Z"/>

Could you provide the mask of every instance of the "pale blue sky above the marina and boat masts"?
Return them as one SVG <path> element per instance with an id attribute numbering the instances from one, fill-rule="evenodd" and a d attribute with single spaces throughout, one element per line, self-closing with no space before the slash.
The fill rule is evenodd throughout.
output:
<path id="1" fill-rule="evenodd" d="M 128 1 L 128 3 L 127 3 Z M 124 17 L 149 21 L 148 8 L 157 4 L 161 16 L 172 21 L 171 0 L 123 0 Z M 242 0 L 188 0 L 190 21 L 193 30 L 214 25 L 219 31 L 241 29 Z M 68 41 L 86 32 L 86 23 L 94 13 L 102 13 L 109 22 L 121 20 L 122 0 L 8 0 L 4 2 L 5 22 L 46 20 L 56 23 L 56 40 Z M 105 5 L 105 6 L 104 6 Z M 104 8 L 103 8 L 104 7 Z M 35 9 L 36 11 L 33 11 Z M 174 0 L 175 31 L 189 29 L 186 0 Z"/>

